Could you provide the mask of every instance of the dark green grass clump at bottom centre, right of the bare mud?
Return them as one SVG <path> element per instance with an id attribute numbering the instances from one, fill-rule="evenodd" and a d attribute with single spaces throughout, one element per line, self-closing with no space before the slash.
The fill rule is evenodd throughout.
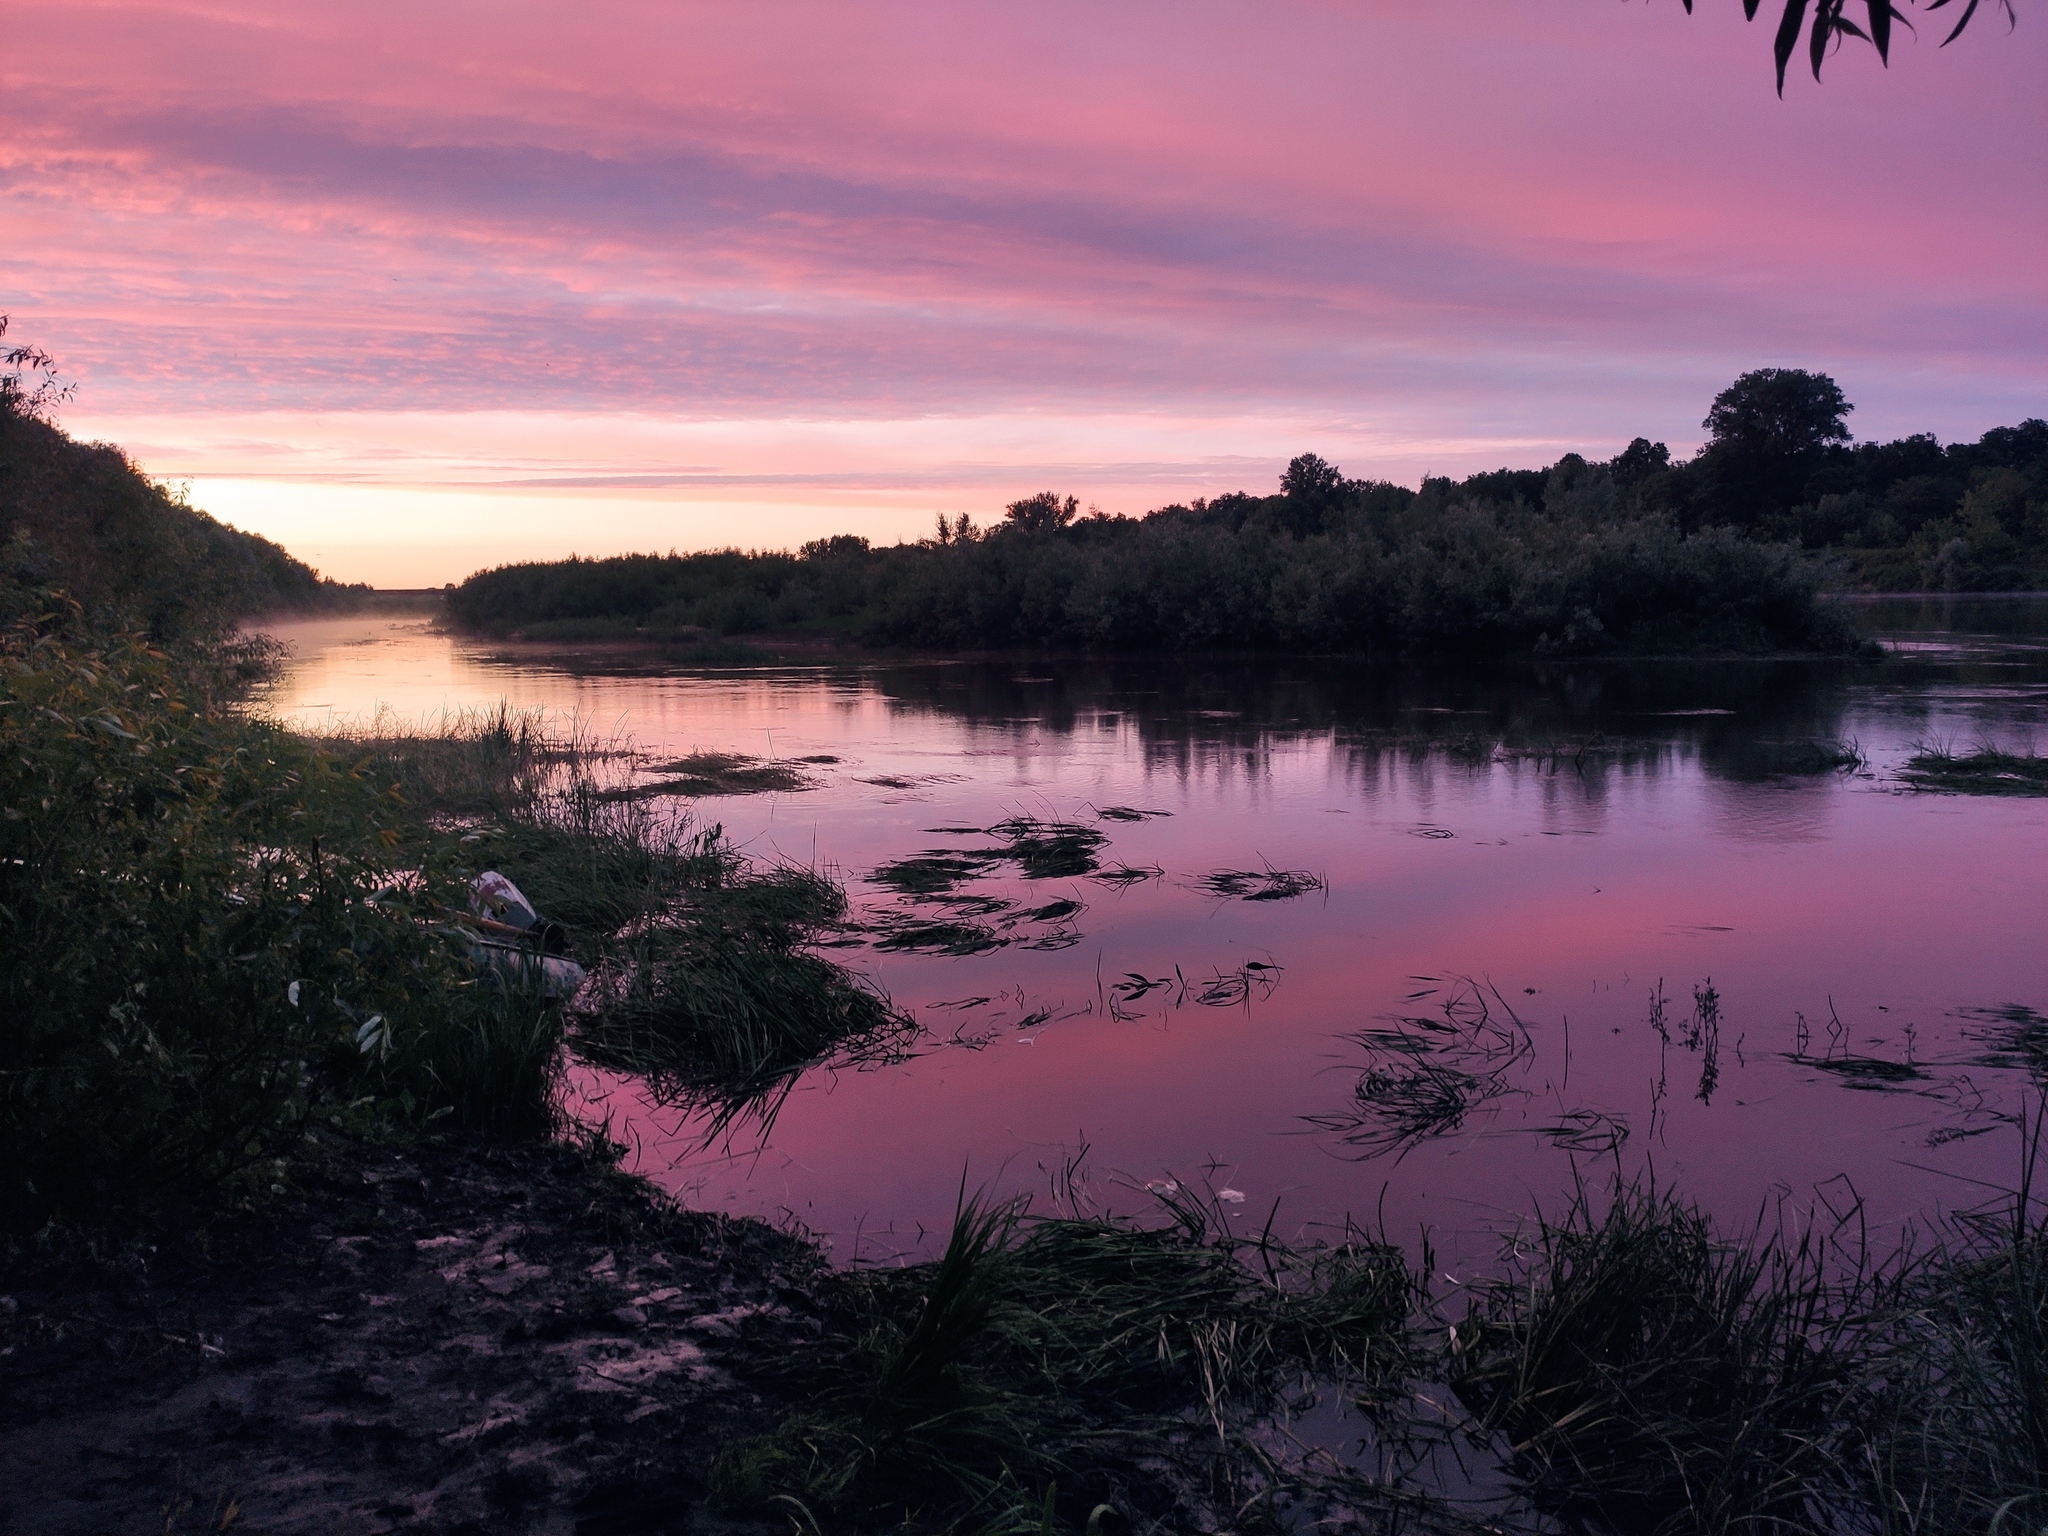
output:
<path id="1" fill-rule="evenodd" d="M 1057 1487 L 1079 1524 L 1188 1516 L 1247 1419 L 1313 1374 L 1378 1401 L 1411 1366 L 1413 1286 L 1362 1239 L 1239 1239 L 1186 1194 L 1161 1227 L 963 1200 L 930 1264 L 825 1280 L 809 1403 L 725 1454 L 729 1503 L 795 1499 L 840 1530 L 977 1530 Z"/>

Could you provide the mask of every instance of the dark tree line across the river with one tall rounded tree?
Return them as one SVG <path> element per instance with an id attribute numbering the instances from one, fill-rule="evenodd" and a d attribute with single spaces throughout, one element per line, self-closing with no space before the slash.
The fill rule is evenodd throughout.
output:
<path id="1" fill-rule="evenodd" d="M 1673 461 L 1636 438 L 1419 489 L 1300 455 L 1274 494 L 1143 518 L 1055 492 L 891 547 L 502 565 L 449 590 L 530 639 L 817 633 L 934 649 L 1784 651 L 1851 643 L 1821 592 L 2048 580 L 2048 424 L 1853 444 L 1833 379 L 1747 373 Z"/>

